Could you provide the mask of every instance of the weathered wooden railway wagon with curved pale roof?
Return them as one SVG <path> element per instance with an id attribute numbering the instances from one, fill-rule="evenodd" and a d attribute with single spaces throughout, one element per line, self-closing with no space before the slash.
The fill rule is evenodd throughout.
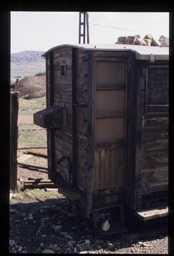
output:
<path id="1" fill-rule="evenodd" d="M 46 58 L 49 178 L 87 216 L 168 204 L 168 47 L 59 45 Z M 123 215 L 122 215 L 123 216 Z"/>

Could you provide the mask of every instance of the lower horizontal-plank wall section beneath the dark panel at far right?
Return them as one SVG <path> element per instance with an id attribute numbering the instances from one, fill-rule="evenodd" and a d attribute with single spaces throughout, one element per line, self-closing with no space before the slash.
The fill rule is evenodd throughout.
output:
<path id="1" fill-rule="evenodd" d="M 168 116 L 144 116 L 142 176 L 150 192 L 168 186 Z"/>

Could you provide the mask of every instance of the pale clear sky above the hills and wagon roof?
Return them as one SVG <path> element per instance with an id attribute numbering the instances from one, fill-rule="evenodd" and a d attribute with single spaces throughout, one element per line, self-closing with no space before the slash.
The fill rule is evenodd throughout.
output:
<path id="1" fill-rule="evenodd" d="M 168 12 L 88 12 L 90 43 L 115 43 L 119 36 L 169 36 Z M 104 27 L 108 26 L 108 27 Z M 111 28 L 115 27 L 115 28 Z M 133 30 L 133 31 L 131 31 Z M 11 52 L 46 51 L 78 43 L 79 12 L 11 12 Z"/>

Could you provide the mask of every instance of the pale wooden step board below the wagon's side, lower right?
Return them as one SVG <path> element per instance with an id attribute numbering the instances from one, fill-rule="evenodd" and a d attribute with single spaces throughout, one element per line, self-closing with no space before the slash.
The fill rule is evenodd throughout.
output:
<path id="1" fill-rule="evenodd" d="M 168 207 L 162 206 L 159 208 L 146 209 L 141 211 L 136 211 L 135 214 L 142 220 L 151 220 L 159 217 L 165 217 L 168 215 Z"/>

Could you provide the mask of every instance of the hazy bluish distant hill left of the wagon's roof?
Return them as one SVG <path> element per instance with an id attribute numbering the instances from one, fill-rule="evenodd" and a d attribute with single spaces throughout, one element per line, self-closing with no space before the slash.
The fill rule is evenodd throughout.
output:
<path id="1" fill-rule="evenodd" d="M 11 79 L 34 76 L 36 73 L 45 72 L 45 59 L 41 57 L 44 52 L 24 50 L 11 54 Z"/>

